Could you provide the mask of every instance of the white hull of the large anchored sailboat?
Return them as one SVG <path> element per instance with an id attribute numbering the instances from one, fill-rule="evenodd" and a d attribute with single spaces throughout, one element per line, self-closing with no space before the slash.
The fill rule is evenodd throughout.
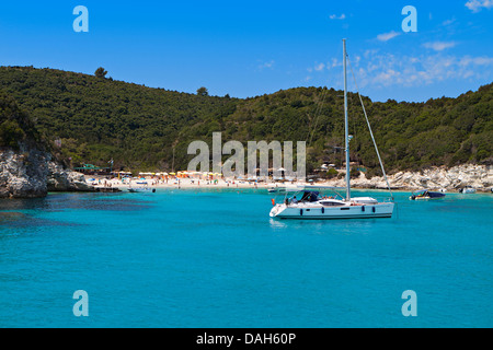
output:
<path id="1" fill-rule="evenodd" d="M 279 219 L 372 219 L 391 218 L 393 202 L 324 207 L 318 203 L 276 205 L 271 218 Z"/>

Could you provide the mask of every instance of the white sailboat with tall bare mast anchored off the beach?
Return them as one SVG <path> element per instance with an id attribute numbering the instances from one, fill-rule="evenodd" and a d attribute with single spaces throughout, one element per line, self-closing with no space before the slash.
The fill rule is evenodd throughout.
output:
<path id="1" fill-rule="evenodd" d="M 286 196 L 284 202 L 275 203 L 273 199 L 273 208 L 271 209 L 271 218 L 279 219 L 369 219 L 369 218 L 391 218 L 393 213 L 394 202 L 393 198 L 389 201 L 378 201 L 372 197 L 352 197 L 351 196 L 351 176 L 349 176 L 349 140 L 352 136 L 348 135 L 348 116 L 347 116 L 347 74 L 346 74 L 346 39 L 343 39 L 344 54 L 344 121 L 345 121 L 345 155 L 346 155 L 346 196 L 339 194 L 331 197 L 322 197 L 319 190 L 312 186 L 307 186 L 300 191 L 300 198 L 296 196 L 288 198 Z M 360 98 L 362 105 L 363 100 Z M 386 178 L 387 185 L 390 185 L 387 179 L 383 164 L 375 142 L 371 128 L 368 122 L 370 136 L 377 151 L 378 160 Z M 335 189 L 335 188 L 334 188 Z M 298 189 L 299 191 L 299 189 Z M 288 191 L 287 191 L 288 192 Z"/>

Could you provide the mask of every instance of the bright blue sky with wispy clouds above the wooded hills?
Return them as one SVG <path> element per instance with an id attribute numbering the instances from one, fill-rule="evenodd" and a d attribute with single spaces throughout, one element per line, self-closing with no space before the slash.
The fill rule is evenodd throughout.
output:
<path id="1" fill-rule="evenodd" d="M 72 28 L 77 5 L 89 33 Z M 405 5 L 415 33 L 402 31 Z M 492 30 L 493 0 L 2 1 L 0 66 L 102 66 L 116 80 L 246 97 L 342 89 L 347 38 L 362 94 L 426 101 L 493 81 Z"/>

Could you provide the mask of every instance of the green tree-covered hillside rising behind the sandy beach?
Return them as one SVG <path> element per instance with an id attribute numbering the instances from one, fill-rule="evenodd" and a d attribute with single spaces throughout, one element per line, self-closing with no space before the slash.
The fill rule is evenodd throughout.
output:
<path id="1" fill-rule="evenodd" d="M 491 164 L 492 86 L 426 103 L 364 97 L 386 167 Z M 222 142 L 238 140 L 245 147 L 251 140 L 307 141 L 309 171 L 342 160 L 343 93 L 333 89 L 297 88 L 240 100 L 53 69 L 0 67 L 0 92 L 28 112 L 41 133 L 60 140 L 59 152 L 74 166 L 104 166 L 113 159 L 116 168 L 186 168 L 188 143 L 210 144 L 214 131 L 222 132 Z M 348 102 L 352 161 L 372 172 L 378 161 L 359 100 L 349 94 Z"/>

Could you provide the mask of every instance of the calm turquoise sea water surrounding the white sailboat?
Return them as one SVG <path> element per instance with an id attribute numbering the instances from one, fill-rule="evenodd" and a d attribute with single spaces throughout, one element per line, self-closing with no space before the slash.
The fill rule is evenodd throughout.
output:
<path id="1" fill-rule="evenodd" d="M 3 200 L 0 327 L 492 327 L 493 196 L 408 196 L 334 221 L 273 220 L 253 189 Z"/>

